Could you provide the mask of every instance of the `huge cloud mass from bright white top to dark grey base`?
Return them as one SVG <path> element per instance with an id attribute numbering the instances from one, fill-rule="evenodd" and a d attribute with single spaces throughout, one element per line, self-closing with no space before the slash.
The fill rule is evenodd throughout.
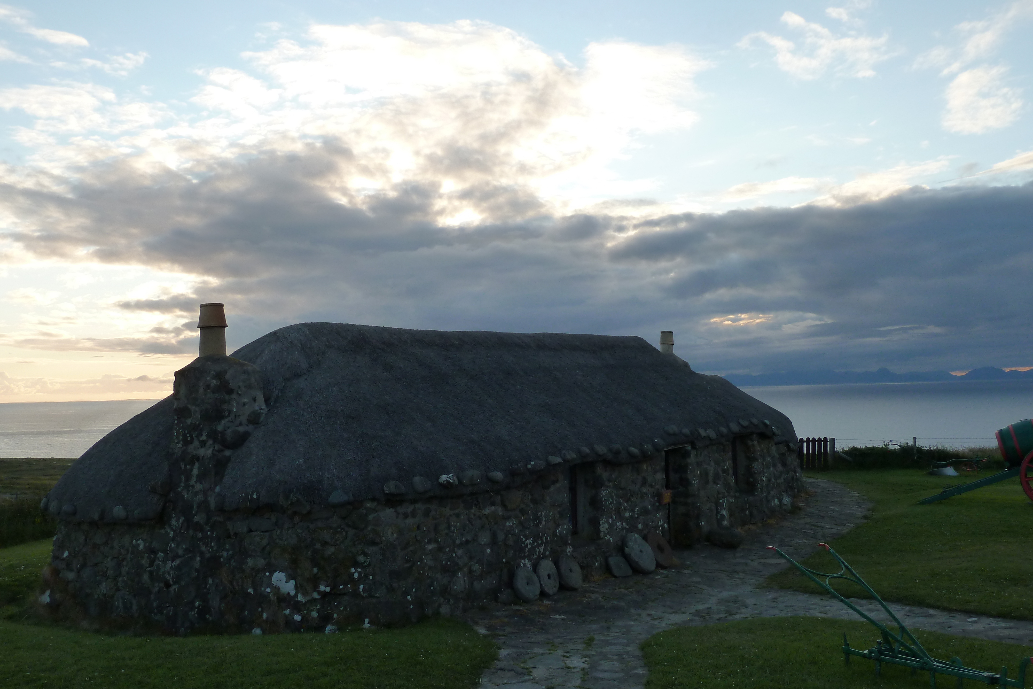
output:
<path id="1" fill-rule="evenodd" d="M 223 302 L 231 347 L 333 320 L 653 340 L 676 330 L 679 353 L 709 371 L 1026 355 L 1013 276 L 1033 269 L 1033 186 L 917 186 L 952 164 L 937 158 L 827 189 L 785 178 L 734 192 L 825 194 L 792 209 L 588 205 L 564 176 L 604 167 L 643 131 L 691 126 L 705 63 L 615 42 L 578 69 L 476 23 L 338 29 L 253 54 L 253 69 L 206 72 L 204 113 L 146 103 L 171 113 L 164 128 L 112 126 L 114 91 L 30 90 L 19 102 L 45 127 L 60 112 L 85 133 L 44 127 L 31 165 L 0 168 L 4 246 L 194 280 L 112 300 L 105 316 L 155 319 L 109 331 L 125 337 L 34 324 L 0 342 L 189 352 L 196 305 Z M 646 102 L 623 103 L 621 89 Z M 924 327 L 880 330 L 901 323 Z"/>

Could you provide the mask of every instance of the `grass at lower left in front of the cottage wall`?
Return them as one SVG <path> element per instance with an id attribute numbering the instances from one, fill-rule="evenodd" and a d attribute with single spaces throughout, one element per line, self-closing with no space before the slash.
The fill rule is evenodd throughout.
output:
<path id="1" fill-rule="evenodd" d="M 40 624 L 51 541 L 0 550 L 0 687 L 475 687 L 495 644 L 469 625 L 265 636 L 107 636 Z"/>

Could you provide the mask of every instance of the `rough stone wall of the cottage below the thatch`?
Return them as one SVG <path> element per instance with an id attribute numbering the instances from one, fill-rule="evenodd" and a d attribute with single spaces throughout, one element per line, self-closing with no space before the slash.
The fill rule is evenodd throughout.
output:
<path id="1" fill-rule="evenodd" d="M 572 554 L 587 576 L 602 575 L 629 531 L 688 545 L 716 525 L 786 511 L 801 487 L 795 453 L 759 435 L 633 464 L 545 470 L 498 492 L 334 508 L 293 501 L 222 511 L 202 499 L 215 473 L 177 475 L 155 523 L 62 523 L 44 575 L 46 608 L 167 633 L 455 615 L 512 601 L 516 567 Z M 668 481 L 669 506 L 660 500 Z"/>

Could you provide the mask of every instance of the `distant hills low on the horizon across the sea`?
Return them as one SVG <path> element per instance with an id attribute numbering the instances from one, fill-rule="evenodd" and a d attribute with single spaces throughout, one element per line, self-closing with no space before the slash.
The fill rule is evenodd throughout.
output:
<path id="1" fill-rule="evenodd" d="M 963 376 L 947 371 L 912 371 L 894 373 L 889 369 L 877 371 L 785 371 L 783 373 L 729 373 L 724 376 L 740 387 L 758 385 L 829 385 L 835 383 L 924 383 L 965 382 L 969 380 L 1033 380 L 1030 371 L 1005 371 L 984 366 Z"/>

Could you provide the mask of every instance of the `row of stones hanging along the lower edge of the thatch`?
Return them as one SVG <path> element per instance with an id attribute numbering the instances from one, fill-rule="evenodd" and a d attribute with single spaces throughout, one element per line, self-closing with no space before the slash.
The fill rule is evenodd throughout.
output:
<path id="1" fill-rule="evenodd" d="M 549 456 L 544 461 L 532 461 L 526 466 L 516 465 L 509 468 L 509 474 L 513 476 L 519 476 L 527 472 L 540 472 L 549 467 L 555 467 L 556 465 L 563 464 L 564 462 L 574 462 L 576 460 L 587 460 L 587 459 L 616 459 L 621 456 L 626 456 L 630 461 L 643 461 L 649 459 L 657 451 L 662 451 L 665 445 L 678 445 L 680 443 L 691 442 L 693 445 L 703 446 L 711 441 L 717 440 L 718 438 L 723 439 L 724 437 L 730 435 L 739 435 L 743 433 L 751 433 L 759 430 L 761 433 L 768 433 L 771 435 L 778 434 L 778 428 L 772 425 L 766 418 L 758 420 L 756 418 L 739 418 L 730 420 L 727 426 L 718 427 L 715 429 L 701 429 L 697 428 L 695 431 L 687 428 L 679 428 L 678 426 L 671 424 L 664 427 L 663 431 L 666 435 L 672 436 L 671 442 L 665 443 L 660 439 L 654 439 L 653 443 L 643 443 L 641 448 L 638 447 L 623 447 L 619 444 L 614 444 L 611 446 L 596 444 L 592 448 L 587 446 L 580 447 L 576 451 L 574 450 L 563 450 L 560 456 L 555 455 Z M 792 441 L 790 441 L 792 442 Z M 654 447 L 654 444 L 657 447 Z M 595 457 L 593 457 L 593 453 Z M 484 474 L 476 469 L 468 469 L 466 471 L 461 471 L 455 474 L 441 474 L 438 476 L 438 484 L 445 490 L 458 489 L 460 487 L 475 487 L 481 483 Z M 505 482 L 506 475 L 501 471 L 490 471 L 487 474 L 487 478 L 490 483 L 501 484 Z M 428 493 L 434 488 L 434 483 L 424 477 L 424 476 L 413 476 L 411 480 L 412 491 L 417 495 L 422 495 Z M 500 486 L 501 487 L 501 486 Z M 168 479 L 163 478 L 160 481 L 155 481 L 151 488 L 152 493 L 164 496 L 168 494 Z M 384 483 L 383 487 L 384 495 L 393 498 L 400 498 L 409 493 L 405 484 L 398 480 L 392 480 Z M 258 501 L 258 494 L 241 496 L 239 499 L 244 505 L 249 505 L 251 502 Z M 227 500 L 224 496 L 218 495 L 215 500 L 218 504 L 214 504 L 215 509 L 226 509 L 229 511 L 236 510 L 241 504 L 237 503 L 237 500 Z M 327 504 L 331 507 L 340 507 L 346 505 L 350 502 L 354 502 L 353 497 L 345 493 L 344 491 L 338 489 L 333 491 L 328 498 Z M 229 503 L 229 504 L 227 504 Z M 39 505 L 41 511 L 49 511 L 55 516 L 65 516 L 71 518 L 76 514 L 76 507 L 73 503 L 65 503 L 64 505 L 59 505 L 56 501 L 51 501 L 49 498 L 43 498 Z M 161 505 L 156 505 L 151 509 L 140 508 L 136 509 L 132 514 L 133 521 L 143 522 L 155 519 L 161 511 Z M 94 515 L 94 521 L 101 521 L 103 514 Z M 111 518 L 115 521 L 124 522 L 129 519 L 128 510 L 122 505 L 116 505 L 112 508 Z"/>

